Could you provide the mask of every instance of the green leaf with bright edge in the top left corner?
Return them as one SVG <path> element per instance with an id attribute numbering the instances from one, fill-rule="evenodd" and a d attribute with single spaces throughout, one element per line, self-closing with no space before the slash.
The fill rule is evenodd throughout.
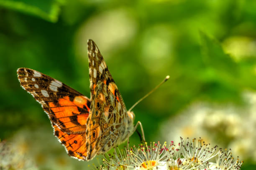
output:
<path id="1" fill-rule="evenodd" d="M 0 6 L 57 22 L 64 0 L 0 0 Z"/>

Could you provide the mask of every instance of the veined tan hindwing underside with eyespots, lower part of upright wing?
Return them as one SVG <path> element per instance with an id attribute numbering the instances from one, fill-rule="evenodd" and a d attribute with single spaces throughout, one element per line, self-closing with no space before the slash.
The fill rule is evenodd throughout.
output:
<path id="1" fill-rule="evenodd" d="M 98 82 L 92 97 L 91 112 L 87 119 L 87 160 L 105 153 L 126 139 L 126 110 L 107 85 Z"/>

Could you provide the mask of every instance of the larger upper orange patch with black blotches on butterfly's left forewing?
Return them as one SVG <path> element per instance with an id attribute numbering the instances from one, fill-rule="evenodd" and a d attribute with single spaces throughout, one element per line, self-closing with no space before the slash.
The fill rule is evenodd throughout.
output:
<path id="1" fill-rule="evenodd" d="M 52 110 L 50 117 L 64 132 L 84 133 L 90 111 L 90 100 L 85 96 L 76 96 L 73 101 L 69 99 L 65 96 L 57 103 L 49 102 L 49 108 Z"/>

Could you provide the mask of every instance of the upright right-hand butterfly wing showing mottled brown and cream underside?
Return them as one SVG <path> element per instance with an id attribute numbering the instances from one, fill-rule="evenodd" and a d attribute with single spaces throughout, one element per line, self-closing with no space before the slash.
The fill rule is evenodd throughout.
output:
<path id="1" fill-rule="evenodd" d="M 87 119 L 87 159 L 105 153 L 128 136 L 126 107 L 95 42 L 88 40 L 91 111 Z M 133 125 L 131 125 L 133 126 Z"/>

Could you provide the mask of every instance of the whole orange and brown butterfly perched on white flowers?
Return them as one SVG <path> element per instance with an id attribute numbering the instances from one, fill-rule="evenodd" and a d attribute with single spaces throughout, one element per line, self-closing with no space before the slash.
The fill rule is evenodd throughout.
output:
<path id="1" fill-rule="evenodd" d="M 133 125 L 118 87 L 94 41 L 88 40 L 90 99 L 64 83 L 29 68 L 18 68 L 21 87 L 41 104 L 54 135 L 67 154 L 91 160 L 123 143 L 141 126 Z"/>

